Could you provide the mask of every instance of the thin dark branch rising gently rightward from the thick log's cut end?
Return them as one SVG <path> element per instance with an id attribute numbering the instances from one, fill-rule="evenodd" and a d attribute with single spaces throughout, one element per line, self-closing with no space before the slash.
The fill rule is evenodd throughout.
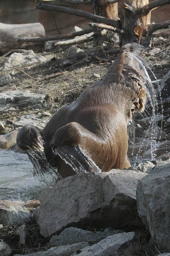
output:
<path id="1" fill-rule="evenodd" d="M 93 28 L 88 28 L 88 29 L 83 29 L 81 31 L 67 33 L 63 35 L 57 35 L 57 36 L 18 38 L 18 42 L 46 42 L 46 41 L 60 40 L 65 38 L 72 38 L 75 36 L 82 36 L 84 34 L 89 34 L 90 32 L 93 32 L 93 31 L 95 31 Z"/>

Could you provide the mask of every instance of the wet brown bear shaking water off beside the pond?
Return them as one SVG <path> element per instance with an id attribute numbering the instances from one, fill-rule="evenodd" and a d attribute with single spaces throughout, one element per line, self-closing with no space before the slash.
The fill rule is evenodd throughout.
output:
<path id="1" fill-rule="evenodd" d="M 76 172 L 54 154 L 57 148 L 81 160 L 84 152 L 102 172 L 129 167 L 127 123 L 132 113 L 145 108 L 146 84 L 140 47 L 127 44 L 106 75 L 73 103 L 57 110 L 40 133 L 33 125 L 24 125 L 18 132 L 18 147 L 44 149 L 47 161 L 57 167 L 62 178 Z"/>

